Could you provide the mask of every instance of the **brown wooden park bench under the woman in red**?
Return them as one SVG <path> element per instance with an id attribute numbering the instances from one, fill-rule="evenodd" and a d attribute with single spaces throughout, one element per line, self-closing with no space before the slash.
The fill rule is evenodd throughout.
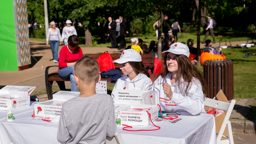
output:
<path id="1" fill-rule="evenodd" d="M 88 55 L 91 58 L 99 58 L 100 55 Z M 112 54 L 111 57 L 113 60 L 117 60 L 118 58 L 120 58 L 121 54 Z M 150 78 L 153 79 L 154 78 L 154 54 L 143 54 L 141 55 L 141 61 L 144 64 L 145 69 L 148 71 L 150 69 L 152 74 L 150 75 Z M 119 69 L 121 64 L 117 64 L 114 63 L 115 65 L 115 69 Z M 48 66 L 45 69 L 45 85 L 46 85 L 46 92 L 48 95 L 48 99 L 52 99 L 52 84 L 54 81 L 57 82 L 59 89 L 61 91 L 65 91 L 66 87 L 65 87 L 65 81 L 70 81 L 70 79 L 66 79 L 66 78 L 61 78 L 59 77 L 58 73 L 48 73 L 49 68 L 50 67 L 58 67 L 58 66 Z M 101 78 L 101 80 L 107 80 L 107 82 L 111 82 L 111 78 Z"/>

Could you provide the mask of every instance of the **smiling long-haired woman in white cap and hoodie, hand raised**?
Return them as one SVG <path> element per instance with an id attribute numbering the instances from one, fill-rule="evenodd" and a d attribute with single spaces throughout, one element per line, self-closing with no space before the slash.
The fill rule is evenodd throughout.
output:
<path id="1" fill-rule="evenodd" d="M 193 66 L 189 48 L 175 42 L 162 58 L 163 66 L 159 77 L 154 78 L 152 90 L 159 91 L 159 104 L 162 111 L 189 112 L 192 115 L 206 113 L 204 97 L 207 95 L 206 82 Z"/>

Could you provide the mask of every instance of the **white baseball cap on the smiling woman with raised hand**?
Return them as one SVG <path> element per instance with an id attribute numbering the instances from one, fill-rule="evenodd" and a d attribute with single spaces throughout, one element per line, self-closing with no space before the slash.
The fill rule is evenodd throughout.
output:
<path id="1" fill-rule="evenodd" d="M 176 55 L 186 55 L 189 57 L 189 48 L 186 44 L 182 44 L 180 42 L 175 42 L 170 46 L 170 49 L 167 51 L 163 51 L 162 53 L 174 53 Z"/>

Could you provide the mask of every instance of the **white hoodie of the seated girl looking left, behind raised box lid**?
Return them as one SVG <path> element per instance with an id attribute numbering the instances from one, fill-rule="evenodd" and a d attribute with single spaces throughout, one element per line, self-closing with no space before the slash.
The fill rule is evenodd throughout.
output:
<path id="1" fill-rule="evenodd" d="M 130 80 L 127 75 L 118 78 L 112 90 L 111 97 L 115 102 L 115 89 L 136 89 L 136 90 L 150 90 L 152 80 L 143 73 L 139 73 L 133 80 Z"/>

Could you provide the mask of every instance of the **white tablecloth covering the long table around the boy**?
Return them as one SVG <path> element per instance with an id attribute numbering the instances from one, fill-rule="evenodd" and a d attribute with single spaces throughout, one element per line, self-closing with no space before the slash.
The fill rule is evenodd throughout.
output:
<path id="1" fill-rule="evenodd" d="M 30 106 L 31 107 L 31 106 Z M 2 144 L 60 144 L 57 140 L 58 123 L 31 120 L 33 111 L 15 117 L 12 122 L 0 122 Z M 125 144 L 216 144 L 213 115 L 192 116 L 182 113 L 176 123 L 154 122 L 156 131 L 124 131 L 118 127 Z M 150 126 L 133 126 L 132 129 L 156 129 Z"/>

